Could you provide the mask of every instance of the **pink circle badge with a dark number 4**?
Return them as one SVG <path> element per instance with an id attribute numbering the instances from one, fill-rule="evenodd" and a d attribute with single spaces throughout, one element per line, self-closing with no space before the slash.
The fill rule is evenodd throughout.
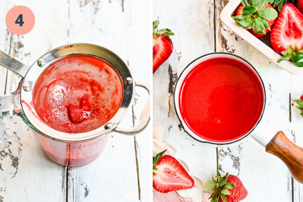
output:
<path id="1" fill-rule="evenodd" d="M 35 15 L 26 6 L 15 6 L 6 14 L 6 26 L 16 35 L 27 34 L 35 25 Z"/>

